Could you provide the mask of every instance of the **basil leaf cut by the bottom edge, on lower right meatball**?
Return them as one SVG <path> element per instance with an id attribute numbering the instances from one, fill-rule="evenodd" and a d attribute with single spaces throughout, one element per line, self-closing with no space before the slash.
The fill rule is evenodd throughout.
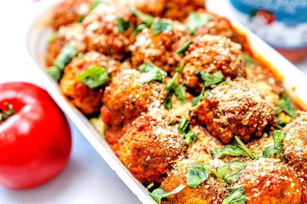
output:
<path id="1" fill-rule="evenodd" d="M 229 194 L 224 198 L 222 204 L 244 204 L 248 198 L 242 186 L 229 187 Z"/>

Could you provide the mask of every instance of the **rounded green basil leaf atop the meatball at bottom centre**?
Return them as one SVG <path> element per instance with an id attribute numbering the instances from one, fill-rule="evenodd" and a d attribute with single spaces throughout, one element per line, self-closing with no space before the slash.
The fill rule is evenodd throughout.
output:
<path id="1" fill-rule="evenodd" d="M 196 188 L 200 183 L 206 180 L 208 176 L 209 169 L 198 163 L 189 165 L 188 173 L 185 175 L 187 185 L 192 188 Z"/>

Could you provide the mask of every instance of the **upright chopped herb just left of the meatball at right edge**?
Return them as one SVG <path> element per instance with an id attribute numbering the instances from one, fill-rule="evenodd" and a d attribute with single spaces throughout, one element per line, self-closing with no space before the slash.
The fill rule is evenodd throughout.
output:
<path id="1" fill-rule="evenodd" d="M 273 137 L 274 137 L 274 145 L 264 147 L 262 152 L 263 152 L 263 157 L 268 158 L 271 155 L 274 155 L 274 158 L 277 157 L 277 155 L 280 155 L 281 158 L 284 158 L 283 152 L 282 152 L 282 147 L 281 147 L 281 142 L 285 138 L 286 133 L 281 132 L 280 130 L 275 130 Z"/>

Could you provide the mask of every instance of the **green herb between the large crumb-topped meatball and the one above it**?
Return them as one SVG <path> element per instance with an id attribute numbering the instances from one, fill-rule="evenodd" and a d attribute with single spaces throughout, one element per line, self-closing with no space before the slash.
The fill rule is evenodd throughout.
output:
<path id="1" fill-rule="evenodd" d="M 224 81 L 224 76 L 221 71 L 218 71 L 214 74 L 208 72 L 195 71 L 194 72 L 200 83 L 203 83 L 204 87 L 216 87 L 219 83 Z"/>

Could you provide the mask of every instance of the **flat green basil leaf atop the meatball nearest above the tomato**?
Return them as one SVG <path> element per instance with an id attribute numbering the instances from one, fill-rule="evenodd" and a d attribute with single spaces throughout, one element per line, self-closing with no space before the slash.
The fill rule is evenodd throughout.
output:
<path id="1" fill-rule="evenodd" d="M 99 87 L 110 81 L 108 72 L 101 66 L 91 66 L 79 75 L 77 79 L 90 89 Z"/>

